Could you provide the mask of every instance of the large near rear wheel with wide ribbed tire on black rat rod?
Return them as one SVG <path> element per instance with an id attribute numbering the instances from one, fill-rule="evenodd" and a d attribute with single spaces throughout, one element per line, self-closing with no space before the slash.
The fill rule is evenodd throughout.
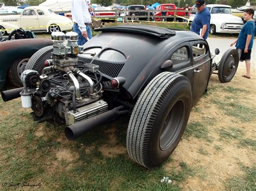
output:
<path id="1" fill-rule="evenodd" d="M 187 77 L 164 72 L 151 80 L 132 111 L 126 147 L 138 164 L 162 164 L 178 145 L 186 128 L 192 93 Z"/>

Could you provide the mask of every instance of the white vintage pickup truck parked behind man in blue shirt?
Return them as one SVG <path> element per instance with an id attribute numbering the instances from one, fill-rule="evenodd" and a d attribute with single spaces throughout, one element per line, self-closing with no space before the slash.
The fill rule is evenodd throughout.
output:
<path id="1" fill-rule="evenodd" d="M 239 33 L 241 31 L 242 19 L 232 15 L 231 6 L 221 4 L 206 5 L 211 12 L 210 34 L 216 33 Z M 188 24 L 193 22 L 194 14 L 190 15 Z"/>

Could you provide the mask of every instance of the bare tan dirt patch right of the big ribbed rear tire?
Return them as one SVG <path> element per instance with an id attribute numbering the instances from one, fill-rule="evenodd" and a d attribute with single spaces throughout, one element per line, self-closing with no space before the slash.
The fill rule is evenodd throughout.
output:
<path id="1" fill-rule="evenodd" d="M 181 161 L 196 171 L 196 175 L 181 182 L 180 187 L 193 190 L 225 189 L 227 179 L 243 174 L 241 164 L 248 167 L 253 165 L 255 150 L 239 144 L 240 140 L 246 138 L 255 141 L 256 127 L 255 116 L 247 118 L 243 116 L 246 110 L 242 110 L 246 107 L 252 113 L 256 112 L 256 77 L 246 79 L 241 76 L 244 71 L 245 66 L 239 66 L 230 83 L 219 83 L 218 76 L 213 75 L 209 84 L 210 91 L 192 109 L 188 124 L 198 122 L 204 126 L 208 139 L 194 135 L 183 137 L 171 155 L 173 161 L 167 164 L 168 172 L 172 171 L 171 166 L 178 166 Z M 255 69 L 252 69 L 252 76 L 256 76 Z M 222 103 L 230 103 L 231 106 L 225 108 Z M 238 110 L 230 112 L 235 105 L 239 106 Z M 204 172 L 199 171 L 201 167 Z"/>

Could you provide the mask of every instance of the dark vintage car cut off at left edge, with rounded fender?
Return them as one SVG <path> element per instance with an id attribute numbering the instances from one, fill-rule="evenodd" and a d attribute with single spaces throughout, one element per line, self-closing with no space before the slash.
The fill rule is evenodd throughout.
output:
<path id="1" fill-rule="evenodd" d="M 15 34 L 16 30 L 11 34 Z M 22 34 L 21 34 L 22 35 Z M 11 38 L 11 36 L 9 36 Z M 49 39 L 17 39 L 0 43 L 0 89 L 6 84 L 21 87 L 21 74 L 30 57 L 39 49 L 52 45 Z"/>

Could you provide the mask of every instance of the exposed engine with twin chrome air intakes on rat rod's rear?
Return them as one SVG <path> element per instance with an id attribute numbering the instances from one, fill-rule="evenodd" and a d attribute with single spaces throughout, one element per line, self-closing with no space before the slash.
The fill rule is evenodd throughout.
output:
<path id="1" fill-rule="evenodd" d="M 83 52 L 83 46 L 77 45 L 78 34 L 54 32 L 52 40 L 52 59 L 45 61 L 42 74 L 25 70 L 21 75 L 25 87 L 21 92 L 23 107 L 31 107 L 38 122 L 67 125 L 107 111 L 99 66 L 84 63 L 78 67 L 78 54 Z"/>

